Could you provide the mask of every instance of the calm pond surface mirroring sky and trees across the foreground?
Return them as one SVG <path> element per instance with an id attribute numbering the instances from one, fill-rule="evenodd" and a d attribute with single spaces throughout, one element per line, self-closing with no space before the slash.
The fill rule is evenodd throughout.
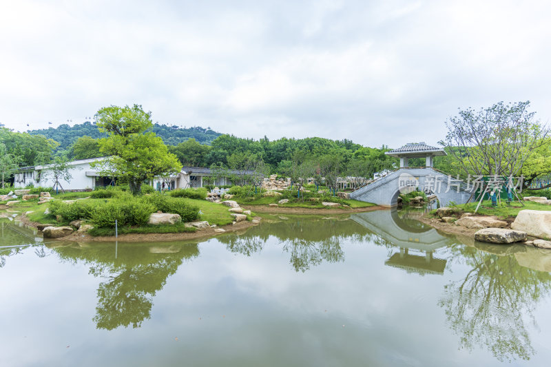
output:
<path id="1" fill-rule="evenodd" d="M 0 220 L 1 366 L 549 366 L 551 251 L 412 211 L 204 242 L 43 242 Z"/>

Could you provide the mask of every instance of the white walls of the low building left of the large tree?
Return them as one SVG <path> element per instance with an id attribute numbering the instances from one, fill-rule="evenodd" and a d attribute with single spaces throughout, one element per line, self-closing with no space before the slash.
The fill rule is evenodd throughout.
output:
<path id="1" fill-rule="evenodd" d="M 112 178 L 100 176 L 98 169 L 90 167 L 92 162 L 101 160 L 105 160 L 105 157 L 69 162 L 69 171 L 72 178 L 69 181 L 59 180 L 61 187 L 65 191 L 85 191 L 93 190 L 97 186 L 105 187 L 110 185 Z M 14 176 L 14 186 L 17 188 L 28 185 L 33 185 L 34 187 L 53 187 L 55 178 L 53 177 L 51 167 L 52 165 L 22 167 Z"/>

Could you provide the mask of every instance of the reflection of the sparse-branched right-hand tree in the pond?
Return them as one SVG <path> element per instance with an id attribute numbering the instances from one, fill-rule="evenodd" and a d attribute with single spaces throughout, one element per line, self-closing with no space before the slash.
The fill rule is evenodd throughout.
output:
<path id="1" fill-rule="evenodd" d="M 471 268 L 463 279 L 447 284 L 439 300 L 460 348 L 486 346 L 500 361 L 530 359 L 534 348 L 525 322 L 535 324 L 534 308 L 551 290 L 550 273 L 519 266 L 512 254 L 498 256 L 462 244 L 451 249 L 455 260 Z"/>

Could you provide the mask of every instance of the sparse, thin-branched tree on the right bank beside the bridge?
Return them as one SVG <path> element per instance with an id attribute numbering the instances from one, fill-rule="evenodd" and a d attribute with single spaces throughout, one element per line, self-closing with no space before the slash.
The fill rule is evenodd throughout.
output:
<path id="1" fill-rule="evenodd" d="M 448 134 L 440 143 L 466 175 L 515 176 L 549 132 L 528 111 L 529 105 L 499 102 L 479 111 L 459 110 L 446 121 Z"/>

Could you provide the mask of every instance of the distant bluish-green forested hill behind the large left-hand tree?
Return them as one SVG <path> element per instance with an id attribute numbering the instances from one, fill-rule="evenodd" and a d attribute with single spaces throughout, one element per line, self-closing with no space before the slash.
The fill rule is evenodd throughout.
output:
<path id="1" fill-rule="evenodd" d="M 182 143 L 189 138 L 194 138 L 201 144 L 210 144 L 221 134 L 214 132 L 211 129 L 202 127 L 183 128 L 176 125 L 167 126 L 154 124 L 152 132 L 160 136 L 166 145 L 176 145 Z M 81 136 L 90 136 L 91 138 L 103 138 L 107 135 L 99 132 L 96 125 L 90 122 L 69 126 L 67 124 L 59 125 L 59 127 L 49 127 L 48 129 L 30 130 L 31 135 L 43 135 L 46 138 L 56 140 L 59 143 L 59 150 L 66 150 Z"/>

